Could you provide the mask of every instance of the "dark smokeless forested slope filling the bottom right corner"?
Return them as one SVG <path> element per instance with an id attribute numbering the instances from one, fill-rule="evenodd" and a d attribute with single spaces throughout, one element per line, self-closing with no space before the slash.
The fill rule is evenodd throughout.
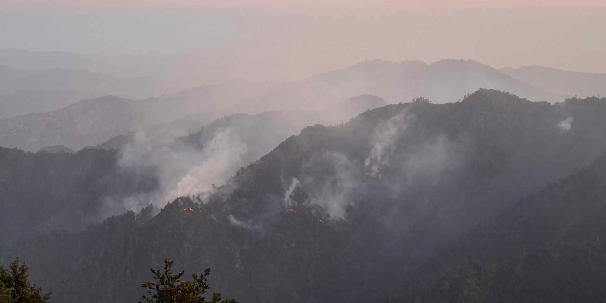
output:
<path id="1" fill-rule="evenodd" d="M 413 275 L 400 300 L 601 302 L 606 154 L 490 216 Z M 419 279 L 419 276 L 422 278 Z M 474 301 L 475 300 L 475 301 Z"/>

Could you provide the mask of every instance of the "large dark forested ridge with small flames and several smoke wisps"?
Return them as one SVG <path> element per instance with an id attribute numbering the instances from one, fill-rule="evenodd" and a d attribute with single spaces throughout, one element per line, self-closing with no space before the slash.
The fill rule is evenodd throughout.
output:
<path id="1" fill-rule="evenodd" d="M 77 268 L 51 265 L 55 277 L 95 287 L 33 267 L 30 275 L 62 301 L 126 302 L 147 268 L 171 256 L 193 271 L 213 268 L 216 290 L 255 302 L 401 295 L 408 274 L 459 233 L 604 153 L 605 111 L 605 99 L 550 105 L 479 90 L 307 127 Z M 35 261 L 28 251 L 41 242 L 28 243 L 5 255 Z"/>

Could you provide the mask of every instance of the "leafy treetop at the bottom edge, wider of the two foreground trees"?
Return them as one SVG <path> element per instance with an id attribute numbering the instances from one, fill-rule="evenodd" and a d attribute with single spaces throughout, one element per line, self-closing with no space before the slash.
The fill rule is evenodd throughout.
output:
<path id="1" fill-rule="evenodd" d="M 164 259 L 164 272 L 151 268 L 156 282 L 145 282 L 141 287 L 147 288 L 149 296 L 141 297 L 139 303 L 238 303 L 233 299 L 221 299 L 220 293 L 213 293 L 210 301 L 204 299 L 204 294 L 210 289 L 206 277 L 210 268 L 206 268 L 200 276 L 193 274 L 193 282 L 181 281 L 185 271 L 173 274 L 173 261 Z"/>

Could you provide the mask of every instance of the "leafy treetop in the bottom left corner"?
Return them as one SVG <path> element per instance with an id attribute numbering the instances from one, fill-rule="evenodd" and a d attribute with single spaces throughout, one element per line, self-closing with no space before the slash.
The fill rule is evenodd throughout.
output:
<path id="1" fill-rule="evenodd" d="M 5 269 L 0 266 L 0 303 L 47 303 L 50 293 L 42 295 L 41 288 L 27 280 L 27 265 L 19 259 Z"/>

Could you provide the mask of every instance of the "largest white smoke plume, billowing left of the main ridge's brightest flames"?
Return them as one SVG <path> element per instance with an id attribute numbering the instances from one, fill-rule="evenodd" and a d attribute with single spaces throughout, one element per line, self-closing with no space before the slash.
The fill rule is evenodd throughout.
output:
<path id="1" fill-rule="evenodd" d="M 176 151 L 169 146 L 153 145 L 147 136 L 138 132 L 122 150 L 119 164 L 136 170 L 153 167 L 159 182 L 158 191 L 120 201 L 108 198 L 106 213 L 120 213 L 125 207 L 138 210 L 147 204 L 163 207 L 180 196 L 204 195 L 224 184 L 246 164 L 247 145 L 231 128 L 219 128 L 202 150 L 183 147 Z"/>

